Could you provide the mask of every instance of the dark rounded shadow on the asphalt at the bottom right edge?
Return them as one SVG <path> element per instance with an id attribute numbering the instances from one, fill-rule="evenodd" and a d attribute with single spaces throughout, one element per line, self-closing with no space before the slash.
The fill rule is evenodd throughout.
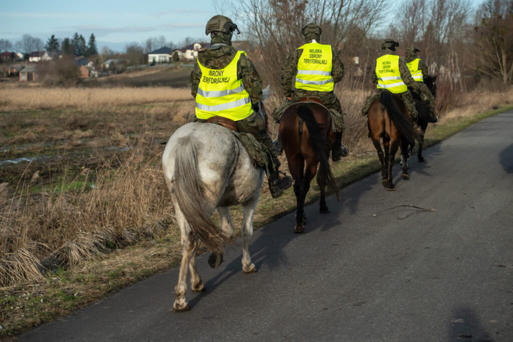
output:
<path id="1" fill-rule="evenodd" d="M 481 325 L 476 311 L 469 307 L 458 307 L 452 311 L 452 317 L 449 322 L 449 338 L 447 340 L 451 342 L 494 341 Z"/>

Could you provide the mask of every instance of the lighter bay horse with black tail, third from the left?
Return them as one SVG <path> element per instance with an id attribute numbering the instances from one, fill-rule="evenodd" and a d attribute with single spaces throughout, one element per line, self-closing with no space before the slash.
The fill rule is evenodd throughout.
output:
<path id="1" fill-rule="evenodd" d="M 408 144 L 415 144 L 417 133 L 407 115 L 401 98 L 388 91 L 383 91 L 381 97 L 375 99 L 367 111 L 369 137 L 378 151 L 381 163 L 381 182 L 390 191 L 395 190 L 392 183 L 392 165 L 399 147 L 403 159 L 403 179 L 409 179 L 406 163 Z M 381 149 L 381 140 L 385 153 Z"/>

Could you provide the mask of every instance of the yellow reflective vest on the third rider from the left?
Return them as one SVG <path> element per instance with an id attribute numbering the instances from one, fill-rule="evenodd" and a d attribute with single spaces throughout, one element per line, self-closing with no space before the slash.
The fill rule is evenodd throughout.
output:
<path id="1" fill-rule="evenodd" d="M 383 55 L 376 60 L 378 89 L 386 89 L 394 94 L 408 91 L 399 71 L 399 56 Z"/>

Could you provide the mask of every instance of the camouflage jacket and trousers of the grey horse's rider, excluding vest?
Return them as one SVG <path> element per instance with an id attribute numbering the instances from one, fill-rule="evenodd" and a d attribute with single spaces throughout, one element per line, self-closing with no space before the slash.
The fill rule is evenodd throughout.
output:
<path id="1" fill-rule="evenodd" d="M 210 48 L 200 50 L 198 52 L 198 60 L 203 66 L 209 69 L 223 69 L 232 61 L 236 53 L 237 50 L 235 50 L 231 45 L 213 44 Z M 201 69 L 198 66 L 198 63 L 196 63 L 192 69 L 189 83 L 191 94 L 194 97 L 198 94 L 198 85 L 200 84 L 201 76 Z M 242 79 L 244 88 L 251 98 L 254 112 L 250 116 L 242 120 L 238 120 L 235 123 L 241 133 L 249 133 L 253 135 L 258 142 L 262 144 L 268 152 L 270 152 L 268 155 L 271 156 L 271 160 L 267 160 L 265 168 L 266 170 L 269 170 L 269 174 L 267 174 L 267 177 L 269 178 L 271 173 L 278 171 L 280 160 L 278 160 L 271 138 L 267 134 L 265 120 L 258 111 L 258 103 L 264 98 L 262 93 L 262 81 L 257 70 L 253 66 L 253 63 L 251 63 L 249 58 L 245 55 L 241 55 L 237 64 L 237 77 Z M 196 118 L 196 121 L 206 122 L 206 120 L 198 118 Z"/>

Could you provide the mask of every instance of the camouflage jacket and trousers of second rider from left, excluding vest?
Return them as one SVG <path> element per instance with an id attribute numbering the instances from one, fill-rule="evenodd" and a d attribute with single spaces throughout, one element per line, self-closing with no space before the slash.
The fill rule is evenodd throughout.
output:
<path id="1" fill-rule="evenodd" d="M 308 91 L 304 89 L 292 90 L 292 81 L 295 80 L 295 74 L 298 73 L 298 62 L 303 49 L 295 50 L 292 55 L 287 59 L 287 62 L 282 67 L 282 90 L 285 97 L 291 97 L 291 100 L 286 100 L 281 106 L 274 110 L 272 117 L 275 122 L 279 123 L 285 109 L 292 103 L 298 102 L 301 98 L 306 96 L 317 97 L 321 100 L 324 106 L 330 110 L 331 118 L 337 132 L 342 132 L 344 128 L 344 119 L 340 101 L 332 91 Z M 344 77 L 344 65 L 340 60 L 337 53 L 333 53 L 332 57 L 332 70 L 331 77 L 333 82 L 337 83 Z"/>

